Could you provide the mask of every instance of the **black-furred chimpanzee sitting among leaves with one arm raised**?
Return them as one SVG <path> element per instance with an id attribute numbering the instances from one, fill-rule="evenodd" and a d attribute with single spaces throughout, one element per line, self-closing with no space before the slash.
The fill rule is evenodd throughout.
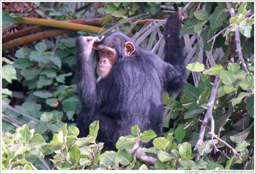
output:
<path id="1" fill-rule="evenodd" d="M 185 81 L 179 38 L 182 18 L 179 10 L 166 21 L 164 61 L 120 32 L 102 39 L 77 38 L 77 90 L 83 105 L 76 122 L 80 137 L 89 134 L 95 120 L 100 127 L 97 139 L 108 149 L 115 149 L 118 138 L 129 135 L 133 125 L 161 136 L 162 93 L 178 91 Z M 97 51 L 98 78 L 92 68 L 92 50 Z M 152 142 L 144 145 L 150 146 Z"/>

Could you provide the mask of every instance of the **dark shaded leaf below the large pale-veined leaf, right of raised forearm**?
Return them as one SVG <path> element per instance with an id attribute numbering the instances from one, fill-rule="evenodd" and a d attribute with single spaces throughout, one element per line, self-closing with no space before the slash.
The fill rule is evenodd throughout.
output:
<path id="1" fill-rule="evenodd" d="M 212 46 L 212 41 L 208 42 L 215 35 L 214 30 L 207 28 L 201 31 L 199 34 L 198 43 L 200 47 L 205 51 L 210 51 Z M 208 43 L 207 43 L 208 42 Z"/>

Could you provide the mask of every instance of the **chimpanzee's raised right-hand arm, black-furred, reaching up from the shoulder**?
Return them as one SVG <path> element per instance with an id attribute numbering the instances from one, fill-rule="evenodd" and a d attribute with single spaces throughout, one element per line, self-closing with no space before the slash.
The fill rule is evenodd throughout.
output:
<path id="1" fill-rule="evenodd" d="M 182 11 L 178 10 L 167 18 L 165 26 L 164 60 L 167 63 L 164 67 L 163 88 L 169 94 L 179 90 L 185 81 L 183 45 L 180 42 L 182 20 Z"/>

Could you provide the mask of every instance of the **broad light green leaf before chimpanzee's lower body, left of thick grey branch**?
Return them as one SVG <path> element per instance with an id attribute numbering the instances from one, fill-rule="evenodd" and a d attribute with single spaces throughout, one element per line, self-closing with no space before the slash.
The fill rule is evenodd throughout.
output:
<path id="1" fill-rule="evenodd" d="M 132 135 L 121 136 L 116 142 L 116 148 L 119 150 L 131 150 L 135 145 L 137 138 Z"/>

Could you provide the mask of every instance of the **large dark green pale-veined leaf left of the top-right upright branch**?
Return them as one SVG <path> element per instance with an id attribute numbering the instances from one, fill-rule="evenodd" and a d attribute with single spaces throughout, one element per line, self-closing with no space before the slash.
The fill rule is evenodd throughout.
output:
<path id="1" fill-rule="evenodd" d="M 214 12 L 209 16 L 211 29 L 217 29 L 220 26 L 221 22 L 226 20 L 226 18 L 228 17 L 228 12 L 229 10 L 226 8 L 216 7 L 214 9 Z"/>

